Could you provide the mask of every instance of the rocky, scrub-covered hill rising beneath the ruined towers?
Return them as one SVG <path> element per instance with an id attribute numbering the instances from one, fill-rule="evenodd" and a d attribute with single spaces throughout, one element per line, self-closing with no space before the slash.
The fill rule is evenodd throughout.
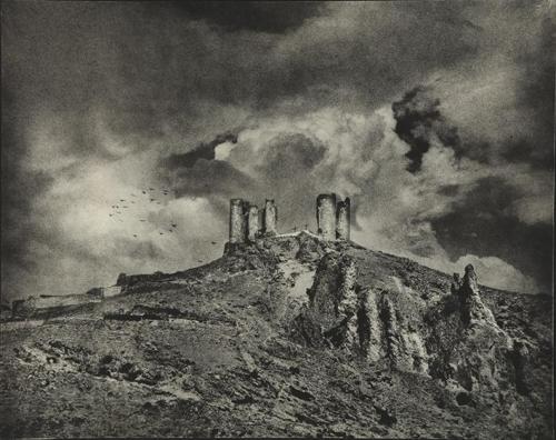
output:
<path id="1" fill-rule="evenodd" d="M 308 233 L 2 323 L 2 437 L 552 438 L 552 299 Z M 120 283 L 119 283 L 120 284 Z"/>

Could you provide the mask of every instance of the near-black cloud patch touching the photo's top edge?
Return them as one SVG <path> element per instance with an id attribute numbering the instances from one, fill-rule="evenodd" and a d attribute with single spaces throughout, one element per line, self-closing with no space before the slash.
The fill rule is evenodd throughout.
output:
<path id="1" fill-rule="evenodd" d="M 202 19 L 226 30 L 281 33 L 316 16 L 319 1 L 187 1 L 158 2 L 153 8 L 170 7 L 191 19 Z"/>

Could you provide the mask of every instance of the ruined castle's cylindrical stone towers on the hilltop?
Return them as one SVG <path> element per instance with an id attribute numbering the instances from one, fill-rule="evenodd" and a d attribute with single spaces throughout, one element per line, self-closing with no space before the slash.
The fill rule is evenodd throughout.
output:
<path id="1" fill-rule="evenodd" d="M 335 193 L 319 194 L 317 197 L 318 236 L 324 240 L 349 240 L 350 209 L 349 198 L 337 200 Z M 278 209 L 274 199 L 266 199 L 262 210 L 244 199 L 230 200 L 230 243 L 252 242 L 260 237 L 276 236 L 277 223 Z"/>

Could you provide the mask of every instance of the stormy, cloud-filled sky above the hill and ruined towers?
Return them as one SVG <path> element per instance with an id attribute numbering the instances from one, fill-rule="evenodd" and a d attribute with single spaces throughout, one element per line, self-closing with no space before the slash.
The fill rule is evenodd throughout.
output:
<path id="1" fill-rule="evenodd" d="M 322 192 L 363 246 L 552 292 L 553 0 L 1 12 L 3 299 L 218 258 L 230 198 L 315 230 Z"/>

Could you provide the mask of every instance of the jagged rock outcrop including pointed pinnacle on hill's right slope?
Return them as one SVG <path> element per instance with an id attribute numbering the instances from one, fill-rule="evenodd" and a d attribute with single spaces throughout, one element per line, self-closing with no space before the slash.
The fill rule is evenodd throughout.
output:
<path id="1" fill-rule="evenodd" d="M 438 378 L 466 392 L 509 384 L 527 390 L 527 344 L 498 327 L 473 266 L 454 280 L 451 294 L 420 310 L 410 289 L 361 286 L 355 259 L 329 250 L 295 320 L 294 338 L 309 347 L 347 349 L 369 364 Z"/>

